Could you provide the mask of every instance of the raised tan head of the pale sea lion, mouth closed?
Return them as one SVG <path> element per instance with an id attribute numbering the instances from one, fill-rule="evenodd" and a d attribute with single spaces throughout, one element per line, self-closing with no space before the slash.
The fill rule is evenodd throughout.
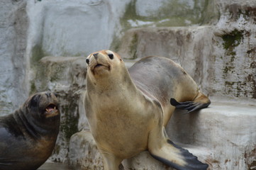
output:
<path id="1" fill-rule="evenodd" d="M 108 74 L 118 72 L 123 66 L 121 57 L 111 50 L 93 52 L 87 57 L 87 74 L 92 77 L 106 77 Z"/>

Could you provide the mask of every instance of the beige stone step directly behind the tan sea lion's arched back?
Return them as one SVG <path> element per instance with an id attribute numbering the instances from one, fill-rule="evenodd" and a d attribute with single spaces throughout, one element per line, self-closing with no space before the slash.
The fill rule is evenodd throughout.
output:
<path id="1" fill-rule="evenodd" d="M 126 32 L 118 53 L 124 58 L 150 55 L 168 57 L 179 63 L 195 81 L 209 91 L 208 64 L 213 52 L 213 28 L 137 28 Z"/>

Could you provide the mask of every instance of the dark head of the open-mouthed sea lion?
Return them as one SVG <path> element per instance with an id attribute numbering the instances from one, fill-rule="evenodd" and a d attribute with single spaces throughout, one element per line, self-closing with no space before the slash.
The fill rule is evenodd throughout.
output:
<path id="1" fill-rule="evenodd" d="M 52 92 L 33 94 L 23 105 L 26 113 L 34 118 L 47 119 L 60 116 L 57 97 Z"/>

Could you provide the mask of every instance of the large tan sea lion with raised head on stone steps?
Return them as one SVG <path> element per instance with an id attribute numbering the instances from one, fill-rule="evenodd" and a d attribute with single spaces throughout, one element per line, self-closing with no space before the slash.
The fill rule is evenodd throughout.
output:
<path id="1" fill-rule="evenodd" d="M 211 103 L 189 74 L 165 57 L 145 57 L 129 71 L 111 50 L 87 57 L 84 107 L 105 170 L 117 170 L 123 159 L 144 150 L 175 169 L 207 169 L 167 137 L 165 125 L 174 111 L 170 98 L 188 111 Z"/>

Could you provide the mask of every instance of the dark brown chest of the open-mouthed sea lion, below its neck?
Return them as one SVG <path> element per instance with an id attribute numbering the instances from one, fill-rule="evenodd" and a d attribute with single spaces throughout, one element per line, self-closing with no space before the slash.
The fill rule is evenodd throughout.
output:
<path id="1" fill-rule="evenodd" d="M 51 134 L 52 139 L 50 139 L 40 135 L 32 126 L 21 126 L 25 124 L 22 123 L 22 120 L 19 121 L 16 123 L 11 115 L 1 118 L 0 163 L 30 162 L 30 164 L 38 164 L 38 162 L 46 160 L 55 146 L 57 135 Z"/>

